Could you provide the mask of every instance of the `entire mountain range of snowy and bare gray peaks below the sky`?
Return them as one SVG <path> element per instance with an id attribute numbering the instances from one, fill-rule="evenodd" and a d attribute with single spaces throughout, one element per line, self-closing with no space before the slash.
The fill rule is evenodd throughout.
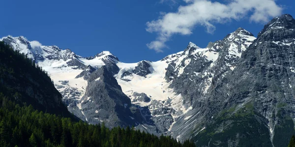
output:
<path id="1" fill-rule="evenodd" d="M 69 112 L 108 127 L 190 139 L 198 147 L 286 147 L 295 133 L 295 20 L 257 38 L 238 28 L 202 49 L 189 42 L 160 61 L 82 57 L 25 37 L 0 39 L 48 72 Z"/>

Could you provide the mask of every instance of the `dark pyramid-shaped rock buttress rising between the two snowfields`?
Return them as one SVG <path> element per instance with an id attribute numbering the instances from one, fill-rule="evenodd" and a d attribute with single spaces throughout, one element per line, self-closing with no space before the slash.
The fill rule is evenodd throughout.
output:
<path id="1" fill-rule="evenodd" d="M 82 112 L 89 123 L 105 122 L 109 127 L 134 125 L 130 107 L 130 98 L 105 66 L 90 74 L 82 98 Z"/>

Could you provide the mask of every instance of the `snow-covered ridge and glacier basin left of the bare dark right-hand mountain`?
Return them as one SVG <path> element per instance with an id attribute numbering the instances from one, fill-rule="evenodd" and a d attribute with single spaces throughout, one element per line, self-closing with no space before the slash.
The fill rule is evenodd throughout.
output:
<path id="1" fill-rule="evenodd" d="M 219 60 L 224 61 L 224 71 L 227 68 L 233 70 L 235 61 L 254 39 L 251 33 L 238 28 L 222 41 L 209 43 L 205 49 L 190 42 L 184 51 L 168 55 L 160 61 L 140 61 L 138 63 L 120 62 L 109 51 L 102 51 L 91 57 L 82 57 L 70 49 L 62 50 L 56 46 L 42 46 L 37 41 L 29 42 L 22 36 L 7 36 L 1 40 L 14 49 L 28 54 L 29 58 L 35 60 L 47 71 L 62 94 L 68 110 L 80 119 L 93 124 L 105 122 L 109 126 L 134 123 L 137 128 L 154 134 L 171 134 L 177 121 L 194 107 L 192 99 L 187 98 L 188 92 L 192 89 L 191 86 L 195 85 L 200 97 L 207 93 L 212 78 L 215 77 L 214 74 L 221 74 L 217 73 L 220 72 L 218 70 L 212 70 L 219 64 Z M 109 113 L 107 111 L 110 111 L 109 108 L 96 106 L 98 101 L 109 105 L 92 96 L 97 88 L 105 88 L 105 86 L 94 83 L 102 80 L 105 72 L 100 72 L 104 76 L 97 75 L 96 79 L 89 80 L 102 67 L 105 67 L 103 71 L 108 71 L 116 79 L 121 91 L 130 99 L 130 102 L 128 100 L 120 102 L 125 109 L 132 107 L 135 111 L 126 112 L 130 113 L 130 119 L 123 122 L 128 123 L 122 123 L 122 121 L 114 123 L 112 119 L 116 118 L 110 116 L 118 115 L 119 111 L 112 110 L 115 111 L 112 112 L 113 114 L 106 115 Z M 110 79 L 107 79 L 102 83 L 109 81 Z M 184 83 L 186 85 L 183 85 Z M 110 94 L 101 97 L 106 96 Z M 120 96 L 122 97 L 124 96 Z M 118 104 L 118 98 L 114 102 Z M 89 103 L 95 104 L 89 106 Z M 110 107 L 115 107 L 115 105 Z M 189 117 L 185 118 L 185 120 L 188 119 Z M 181 137 L 181 135 L 177 136 Z"/>

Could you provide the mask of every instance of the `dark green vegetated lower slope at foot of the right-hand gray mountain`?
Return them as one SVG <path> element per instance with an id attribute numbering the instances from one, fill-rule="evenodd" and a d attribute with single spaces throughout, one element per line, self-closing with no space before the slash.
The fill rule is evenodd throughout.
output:
<path id="1" fill-rule="evenodd" d="M 271 147 L 268 128 L 263 116 L 255 113 L 253 103 L 220 112 L 214 123 L 197 134 L 193 141 L 198 147 Z M 251 142 L 249 142 L 251 140 Z"/>

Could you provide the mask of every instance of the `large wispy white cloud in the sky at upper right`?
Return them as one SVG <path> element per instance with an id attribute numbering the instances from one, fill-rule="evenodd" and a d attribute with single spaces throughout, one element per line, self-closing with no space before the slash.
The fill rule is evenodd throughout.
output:
<path id="1" fill-rule="evenodd" d="M 190 35 L 196 25 L 205 26 L 208 33 L 213 33 L 213 24 L 216 23 L 243 18 L 249 18 L 251 22 L 266 23 L 270 17 L 282 13 L 282 7 L 275 0 L 229 0 L 228 3 L 211 0 L 183 1 L 186 5 L 179 6 L 177 12 L 161 13 L 159 19 L 147 23 L 146 30 L 158 34 L 155 41 L 147 44 L 149 49 L 163 51 L 163 48 L 167 48 L 165 43 L 172 35 Z"/>

